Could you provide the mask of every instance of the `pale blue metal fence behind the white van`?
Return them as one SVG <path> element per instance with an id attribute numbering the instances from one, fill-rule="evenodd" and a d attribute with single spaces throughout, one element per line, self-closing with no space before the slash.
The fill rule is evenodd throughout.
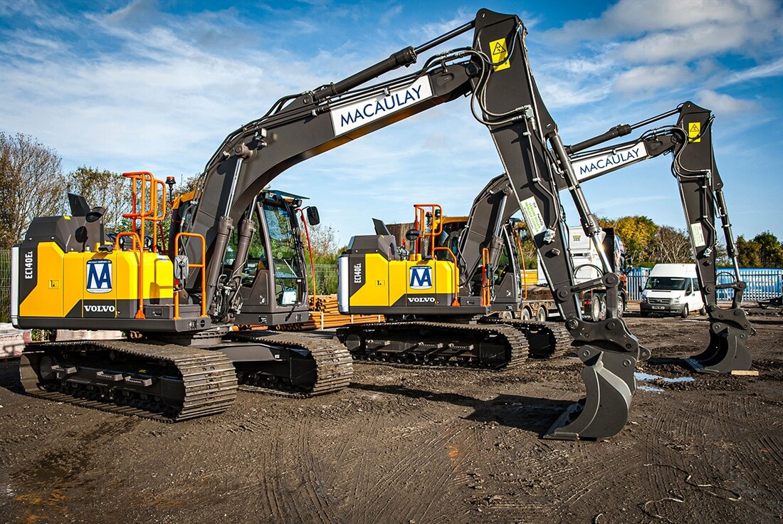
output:
<path id="1" fill-rule="evenodd" d="M 640 300 L 639 287 L 644 287 L 644 284 L 647 283 L 650 270 L 646 267 L 637 267 L 633 268 L 633 271 L 628 275 L 628 297 L 630 300 Z M 743 302 L 766 300 L 783 295 L 783 269 L 740 268 L 739 276 L 740 280 L 748 284 L 742 295 Z M 734 269 L 718 268 L 716 277 L 718 284 L 731 284 L 734 281 Z M 717 298 L 720 301 L 730 301 L 733 297 L 734 291 L 731 289 L 718 290 Z"/>

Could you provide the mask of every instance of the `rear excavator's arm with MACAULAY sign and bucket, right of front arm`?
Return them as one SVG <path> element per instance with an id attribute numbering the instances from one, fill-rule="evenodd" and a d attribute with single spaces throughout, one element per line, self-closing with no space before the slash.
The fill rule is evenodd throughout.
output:
<path id="1" fill-rule="evenodd" d="M 589 147 L 628 135 L 633 129 L 675 114 L 678 115 L 676 125 L 651 129 L 639 139 L 627 143 L 586 151 Z M 675 110 L 646 121 L 615 126 L 600 136 L 566 147 L 566 151 L 581 182 L 648 158 L 672 154 L 671 171 L 680 190 L 699 287 L 710 325 L 707 349 L 687 359 L 687 363 L 705 373 L 731 373 L 732 370 L 750 368 L 752 358 L 747 341 L 755 334 L 755 330 L 741 309 L 745 282 L 739 275 L 737 249 L 723 196 L 723 180 L 713 153 L 713 119 L 709 110 L 685 102 Z M 558 189 L 564 190 L 566 187 L 565 180 L 561 179 Z M 727 255 L 734 269 L 734 280 L 727 284 L 718 284 L 716 277 L 716 215 L 720 217 Z M 727 309 L 717 305 L 716 294 L 720 289 L 734 290 L 731 307 Z"/>

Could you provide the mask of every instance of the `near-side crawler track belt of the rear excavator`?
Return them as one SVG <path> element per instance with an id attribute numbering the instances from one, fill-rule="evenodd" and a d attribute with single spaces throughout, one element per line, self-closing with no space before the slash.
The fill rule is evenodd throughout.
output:
<path id="1" fill-rule="evenodd" d="M 352 326 L 348 327 L 348 330 L 373 330 L 373 329 L 384 329 L 384 330 L 407 330 L 410 328 L 420 328 L 420 327 L 431 327 L 435 329 L 441 329 L 441 330 L 448 330 L 452 333 L 456 331 L 471 331 L 471 332 L 477 332 L 477 331 L 483 331 L 486 334 L 500 334 L 504 338 L 506 338 L 506 342 L 508 345 L 511 346 L 511 358 L 506 362 L 501 364 L 500 366 L 493 367 L 492 369 L 511 369 L 512 367 L 517 367 L 521 363 L 525 362 L 528 358 L 528 341 L 527 338 L 525 338 L 524 335 L 521 334 L 518 329 L 514 327 L 509 326 L 489 326 L 487 324 L 467 324 L 467 323 L 441 323 L 441 322 L 423 322 L 423 321 L 410 321 L 410 322 L 387 322 L 387 323 L 365 323 L 365 324 L 353 324 Z M 366 337 L 365 337 L 366 338 Z M 394 360 L 388 360 L 386 357 L 387 355 L 383 352 L 381 354 L 381 361 L 386 362 L 395 362 Z M 353 358 L 357 360 L 370 360 L 365 355 L 353 355 Z M 377 361 L 377 360 L 372 360 Z M 395 362 L 397 363 L 397 362 Z M 399 363 L 401 365 L 404 365 L 404 363 Z M 427 362 L 426 365 L 428 366 L 456 366 L 456 367 L 476 367 L 474 365 L 471 365 L 471 362 L 461 362 L 460 360 L 433 360 L 431 362 Z"/>

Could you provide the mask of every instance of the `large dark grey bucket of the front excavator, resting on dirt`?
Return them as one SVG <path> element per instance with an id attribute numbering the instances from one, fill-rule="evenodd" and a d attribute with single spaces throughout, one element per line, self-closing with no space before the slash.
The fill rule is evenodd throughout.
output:
<path id="1" fill-rule="evenodd" d="M 648 356 L 647 350 L 643 352 Z M 629 354 L 604 352 L 594 345 L 583 345 L 579 358 L 586 365 L 582 370 L 586 397 L 557 418 L 545 439 L 602 439 L 616 435 L 628 421 L 636 389 L 633 370 L 637 359 Z"/>

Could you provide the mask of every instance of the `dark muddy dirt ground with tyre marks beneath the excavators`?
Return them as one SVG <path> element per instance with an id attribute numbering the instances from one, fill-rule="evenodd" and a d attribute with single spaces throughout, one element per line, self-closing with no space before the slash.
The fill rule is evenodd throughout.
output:
<path id="1" fill-rule="evenodd" d="M 759 377 L 680 366 L 705 348 L 704 317 L 627 322 L 653 352 L 638 370 L 695 381 L 648 382 L 600 442 L 541 439 L 583 392 L 576 356 L 507 372 L 357 363 L 343 392 L 240 392 L 174 425 L 24 396 L 18 360 L 2 361 L 0 520 L 781 522 L 781 317 L 755 323 Z"/>

